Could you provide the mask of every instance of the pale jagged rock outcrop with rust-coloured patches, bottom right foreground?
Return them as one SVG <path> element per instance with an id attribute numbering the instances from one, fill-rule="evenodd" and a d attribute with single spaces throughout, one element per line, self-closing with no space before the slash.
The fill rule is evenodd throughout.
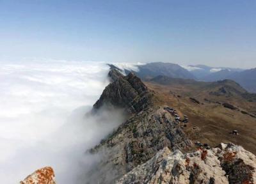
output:
<path id="1" fill-rule="evenodd" d="M 125 174 L 117 184 L 254 183 L 255 167 L 255 155 L 234 144 L 186 154 L 164 148 Z"/>

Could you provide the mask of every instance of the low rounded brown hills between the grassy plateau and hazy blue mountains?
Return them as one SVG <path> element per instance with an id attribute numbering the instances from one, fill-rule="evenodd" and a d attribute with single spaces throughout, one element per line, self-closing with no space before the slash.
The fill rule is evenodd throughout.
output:
<path id="1" fill-rule="evenodd" d="M 186 90 L 180 91 L 184 93 L 188 91 L 192 96 L 195 96 L 204 101 L 204 98 L 212 99 L 218 98 L 216 101 L 220 102 L 235 102 L 237 105 L 250 107 L 247 102 L 256 102 L 256 94 L 248 93 L 237 82 L 232 80 L 223 80 L 217 82 L 200 82 L 189 79 L 175 79 L 166 76 L 157 76 L 150 80 L 157 84 L 165 86 L 173 86 L 179 88 L 186 88 Z M 203 98 L 204 97 L 204 98 Z"/>

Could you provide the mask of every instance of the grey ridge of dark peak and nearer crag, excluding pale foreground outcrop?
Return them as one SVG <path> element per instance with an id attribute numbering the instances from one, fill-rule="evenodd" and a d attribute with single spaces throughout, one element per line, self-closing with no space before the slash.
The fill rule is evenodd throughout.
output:
<path id="1" fill-rule="evenodd" d="M 124 76 L 115 69 L 109 72 L 109 76 L 113 82 L 103 91 L 95 109 L 109 103 L 129 109 L 131 116 L 91 150 L 91 153 L 103 155 L 95 172 L 90 173 L 90 176 L 98 175 L 93 177 L 94 182 L 113 183 L 166 146 L 173 151 L 193 148 L 170 112 L 154 105 L 154 93 L 138 77 L 133 73 Z"/>

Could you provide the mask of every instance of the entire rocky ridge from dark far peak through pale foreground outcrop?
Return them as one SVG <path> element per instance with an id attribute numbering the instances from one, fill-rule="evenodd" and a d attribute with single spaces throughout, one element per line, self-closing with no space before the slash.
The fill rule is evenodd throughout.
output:
<path id="1" fill-rule="evenodd" d="M 195 147 L 136 75 L 112 68 L 109 77 L 93 113 L 114 107 L 129 118 L 88 151 L 100 160 L 85 173 L 87 183 L 256 183 L 255 155 L 231 143 Z"/>

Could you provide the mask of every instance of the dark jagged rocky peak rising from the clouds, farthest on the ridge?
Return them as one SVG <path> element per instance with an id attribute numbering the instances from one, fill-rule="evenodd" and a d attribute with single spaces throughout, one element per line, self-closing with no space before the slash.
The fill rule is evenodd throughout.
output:
<path id="1" fill-rule="evenodd" d="M 116 69 L 108 73 L 111 83 L 104 89 L 99 100 L 93 105 L 99 109 L 104 104 L 125 108 L 128 112 L 140 112 L 151 104 L 152 93 L 133 73 L 124 76 Z"/>

